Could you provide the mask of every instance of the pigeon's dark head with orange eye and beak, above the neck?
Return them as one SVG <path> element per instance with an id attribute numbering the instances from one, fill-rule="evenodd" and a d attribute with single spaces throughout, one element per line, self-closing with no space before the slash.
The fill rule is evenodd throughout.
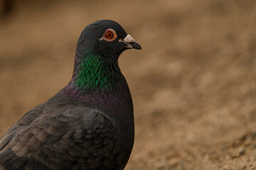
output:
<path id="1" fill-rule="evenodd" d="M 118 58 L 127 49 L 141 50 L 142 47 L 125 32 L 119 23 L 101 20 L 91 23 L 82 31 L 77 52 L 91 50 L 102 57 Z"/>

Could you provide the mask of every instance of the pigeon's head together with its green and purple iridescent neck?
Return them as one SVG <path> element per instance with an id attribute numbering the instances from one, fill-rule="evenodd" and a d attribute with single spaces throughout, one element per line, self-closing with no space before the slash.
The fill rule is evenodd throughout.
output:
<path id="1" fill-rule="evenodd" d="M 65 87 L 70 98 L 86 102 L 101 98 L 98 103 L 106 103 L 129 94 L 117 61 L 127 49 L 142 47 L 118 23 L 102 20 L 87 26 L 78 40 L 73 77 Z"/>

